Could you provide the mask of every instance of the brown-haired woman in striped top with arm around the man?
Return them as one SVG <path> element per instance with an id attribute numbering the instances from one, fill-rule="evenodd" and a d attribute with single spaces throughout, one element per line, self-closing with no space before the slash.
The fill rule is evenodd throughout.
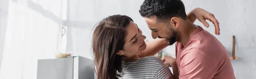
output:
<path id="1" fill-rule="evenodd" d="M 197 12 L 199 15 L 194 14 Z M 206 17 L 206 14 L 210 13 L 197 8 L 188 17 L 195 22 L 195 17 Z M 202 18 L 198 20 L 205 22 Z M 157 39 L 145 44 L 145 38 L 128 16 L 113 15 L 103 19 L 93 32 L 92 43 L 98 79 L 172 79 L 169 68 L 153 56 L 166 48 L 167 42 Z"/>

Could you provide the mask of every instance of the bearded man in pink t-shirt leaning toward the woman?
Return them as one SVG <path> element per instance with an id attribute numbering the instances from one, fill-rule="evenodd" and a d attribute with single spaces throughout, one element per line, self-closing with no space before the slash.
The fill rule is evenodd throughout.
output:
<path id="1" fill-rule="evenodd" d="M 154 39 L 164 38 L 169 45 L 176 42 L 177 61 L 170 56 L 163 59 L 166 65 L 177 68 L 174 75 L 180 79 L 236 79 L 224 46 L 188 19 L 181 0 L 145 0 L 140 15 Z"/>

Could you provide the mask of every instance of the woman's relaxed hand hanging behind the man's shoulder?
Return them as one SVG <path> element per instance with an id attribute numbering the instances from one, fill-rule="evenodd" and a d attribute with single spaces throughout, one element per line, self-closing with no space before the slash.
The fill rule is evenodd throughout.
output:
<path id="1" fill-rule="evenodd" d="M 192 21 L 192 23 L 194 23 L 197 18 L 207 28 L 209 27 L 209 23 L 207 23 L 205 20 L 211 21 L 215 26 L 215 34 L 220 35 L 219 22 L 212 13 L 202 8 L 195 8 L 192 11 L 190 11 L 187 15 L 189 20 Z"/>

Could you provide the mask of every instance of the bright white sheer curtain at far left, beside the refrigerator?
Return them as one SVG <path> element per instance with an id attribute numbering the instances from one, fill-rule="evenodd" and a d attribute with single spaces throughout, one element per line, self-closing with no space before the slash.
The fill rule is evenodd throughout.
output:
<path id="1" fill-rule="evenodd" d="M 59 53 L 62 0 L 0 0 L 0 79 L 36 79 Z"/>

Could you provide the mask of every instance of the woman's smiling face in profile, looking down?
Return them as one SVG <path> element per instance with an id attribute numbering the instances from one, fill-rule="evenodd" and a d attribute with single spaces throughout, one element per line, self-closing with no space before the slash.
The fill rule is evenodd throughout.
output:
<path id="1" fill-rule="evenodd" d="M 132 57 L 145 50 L 146 43 L 144 40 L 146 37 L 142 35 L 142 31 L 138 28 L 137 24 L 131 21 L 126 27 L 126 32 L 125 45 L 123 50 L 119 51 L 119 55 Z"/>

